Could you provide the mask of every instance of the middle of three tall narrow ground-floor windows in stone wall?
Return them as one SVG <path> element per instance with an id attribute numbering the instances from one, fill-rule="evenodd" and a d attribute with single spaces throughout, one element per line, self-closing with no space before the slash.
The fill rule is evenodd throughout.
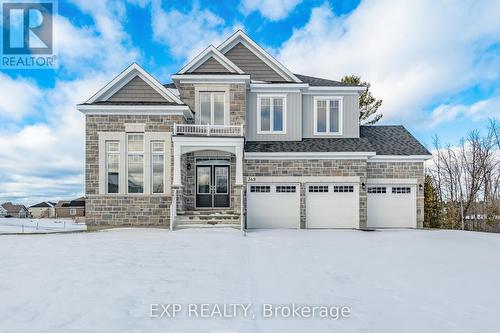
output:
<path id="1" fill-rule="evenodd" d="M 144 193 L 144 134 L 127 135 L 127 190 Z"/>

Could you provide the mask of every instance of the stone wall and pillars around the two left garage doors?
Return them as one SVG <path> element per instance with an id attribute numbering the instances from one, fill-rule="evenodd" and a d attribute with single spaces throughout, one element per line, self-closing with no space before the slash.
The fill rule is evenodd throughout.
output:
<path id="1" fill-rule="evenodd" d="M 280 177 L 280 176 L 359 176 L 366 182 L 366 160 L 245 160 L 245 177 Z M 366 227 L 366 190 L 359 189 L 360 227 Z M 305 184 L 300 190 L 300 227 L 306 224 Z"/>

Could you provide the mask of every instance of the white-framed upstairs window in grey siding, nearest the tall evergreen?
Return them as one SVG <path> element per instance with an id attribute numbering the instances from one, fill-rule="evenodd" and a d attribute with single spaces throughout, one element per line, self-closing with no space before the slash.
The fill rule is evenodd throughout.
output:
<path id="1" fill-rule="evenodd" d="M 342 134 L 342 97 L 314 97 L 314 134 Z"/>

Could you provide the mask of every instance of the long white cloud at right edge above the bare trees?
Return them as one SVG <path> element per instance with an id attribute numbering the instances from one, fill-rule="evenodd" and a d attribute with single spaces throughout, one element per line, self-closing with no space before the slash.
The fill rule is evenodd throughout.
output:
<path id="1" fill-rule="evenodd" d="M 500 118 L 499 105 L 500 96 L 483 99 L 469 105 L 441 104 L 432 110 L 431 119 L 427 126 L 432 128 L 460 118 L 467 118 L 473 121 Z"/>

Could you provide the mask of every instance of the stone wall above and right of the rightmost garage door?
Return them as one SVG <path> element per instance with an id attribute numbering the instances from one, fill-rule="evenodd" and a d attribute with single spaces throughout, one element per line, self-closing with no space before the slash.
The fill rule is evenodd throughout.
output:
<path id="1" fill-rule="evenodd" d="M 424 184 L 423 162 L 368 162 L 368 178 L 417 178 L 418 184 Z M 417 227 L 424 223 L 424 192 L 417 185 Z"/>

